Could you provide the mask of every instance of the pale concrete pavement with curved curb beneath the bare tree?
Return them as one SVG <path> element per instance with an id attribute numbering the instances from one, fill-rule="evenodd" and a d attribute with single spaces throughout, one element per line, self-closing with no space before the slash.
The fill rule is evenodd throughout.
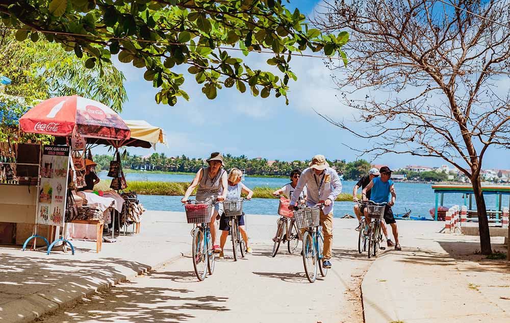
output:
<path id="1" fill-rule="evenodd" d="M 363 279 L 366 323 L 510 322 L 506 261 L 477 255 L 478 237 L 435 233 L 444 222 L 398 226 L 403 251 L 378 257 Z M 504 252 L 502 237 L 492 242 Z"/>

